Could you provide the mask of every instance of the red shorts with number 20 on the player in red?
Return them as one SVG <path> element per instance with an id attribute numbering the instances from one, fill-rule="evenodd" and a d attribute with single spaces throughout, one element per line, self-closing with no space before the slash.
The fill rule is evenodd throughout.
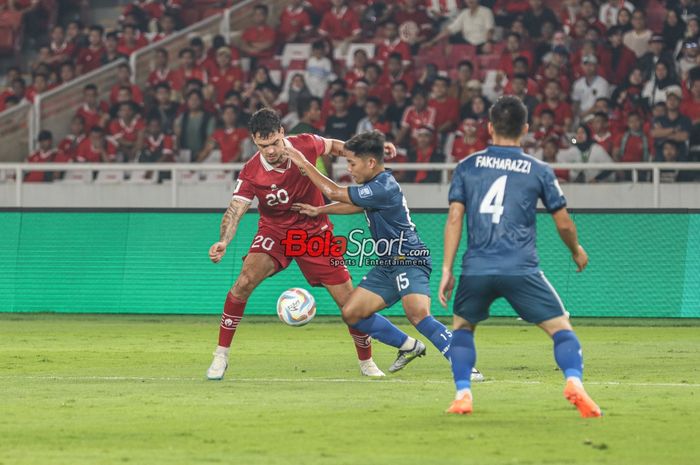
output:
<path id="1" fill-rule="evenodd" d="M 332 260 L 337 260 L 337 258 L 323 255 L 318 257 L 310 255 L 290 257 L 286 255 L 285 246 L 282 244 L 282 240 L 286 235 L 286 230 L 260 226 L 253 238 L 250 249 L 248 249 L 248 253 L 264 253 L 272 257 L 277 265 L 275 273 L 284 270 L 292 260 L 296 260 L 299 269 L 311 286 L 320 286 L 322 284 L 333 286 L 350 280 L 350 273 L 345 265 L 331 263 Z"/>

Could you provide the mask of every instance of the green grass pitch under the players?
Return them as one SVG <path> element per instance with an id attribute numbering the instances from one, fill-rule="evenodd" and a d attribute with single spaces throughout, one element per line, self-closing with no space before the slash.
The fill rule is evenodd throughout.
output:
<path id="1" fill-rule="evenodd" d="M 698 463 L 697 323 L 581 322 L 605 413 L 584 420 L 551 343 L 515 319 L 477 332 L 471 417 L 443 413 L 453 386 L 434 349 L 361 378 L 336 321 L 244 319 L 210 382 L 218 317 L 0 315 L 0 464 Z M 380 367 L 394 355 L 375 343 Z"/>

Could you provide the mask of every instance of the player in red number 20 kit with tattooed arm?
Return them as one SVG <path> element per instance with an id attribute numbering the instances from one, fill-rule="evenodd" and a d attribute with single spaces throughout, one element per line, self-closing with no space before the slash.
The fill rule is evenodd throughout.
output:
<path id="1" fill-rule="evenodd" d="M 277 113 L 270 108 L 258 110 L 249 123 L 258 152 L 246 163 L 238 176 L 233 198 L 221 222 L 219 241 L 209 249 L 209 258 L 219 263 L 233 239 L 238 223 L 254 198 L 259 201 L 258 231 L 243 262 L 235 284 L 226 296 L 219 327 L 219 343 L 214 352 L 207 378 L 220 380 L 228 367 L 231 340 L 243 317 L 248 297 L 265 278 L 278 273 L 292 261 L 285 254 L 282 241 L 290 229 L 302 229 L 309 235 L 332 233 L 333 225 L 327 215 L 309 218 L 291 209 L 294 203 L 323 205 L 323 195 L 285 155 L 286 147 L 294 147 L 311 163 L 318 157 L 344 155 L 343 142 L 324 139 L 312 134 L 285 137 Z M 393 145 L 387 150 L 395 153 Z M 294 257 L 307 282 L 323 285 L 339 307 L 345 305 L 352 293 L 352 281 L 347 268 L 331 264 L 332 257 Z M 369 336 L 349 328 L 360 360 L 360 371 L 366 376 L 384 376 L 372 360 Z"/>

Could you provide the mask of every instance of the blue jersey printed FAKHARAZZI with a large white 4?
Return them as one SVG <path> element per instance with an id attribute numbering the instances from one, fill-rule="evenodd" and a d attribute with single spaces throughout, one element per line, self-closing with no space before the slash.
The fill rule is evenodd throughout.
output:
<path id="1" fill-rule="evenodd" d="M 552 168 L 519 147 L 490 146 L 462 160 L 449 201 L 467 216 L 465 275 L 522 275 L 539 271 L 538 199 L 553 213 L 566 206 Z"/>

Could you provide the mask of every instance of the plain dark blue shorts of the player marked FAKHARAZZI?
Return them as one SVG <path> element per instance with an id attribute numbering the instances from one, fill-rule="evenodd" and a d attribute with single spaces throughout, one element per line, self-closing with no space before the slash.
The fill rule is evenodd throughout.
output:
<path id="1" fill-rule="evenodd" d="M 530 323 L 551 320 L 565 312 L 557 291 L 541 271 L 520 276 L 462 275 L 452 312 L 477 324 L 489 317 L 489 307 L 499 297 L 505 297 L 513 310 Z"/>

